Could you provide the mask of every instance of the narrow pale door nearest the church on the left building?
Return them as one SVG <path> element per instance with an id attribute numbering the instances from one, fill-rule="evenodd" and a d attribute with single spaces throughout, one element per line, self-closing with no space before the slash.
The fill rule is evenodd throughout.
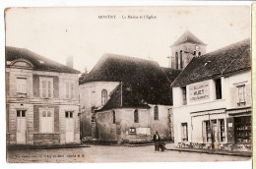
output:
<path id="1" fill-rule="evenodd" d="M 66 143 L 74 142 L 74 118 L 73 112 L 66 111 Z"/>

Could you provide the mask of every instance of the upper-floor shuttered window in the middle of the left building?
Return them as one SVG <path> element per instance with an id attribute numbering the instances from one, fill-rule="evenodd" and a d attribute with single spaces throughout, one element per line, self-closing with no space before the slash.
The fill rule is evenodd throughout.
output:
<path id="1" fill-rule="evenodd" d="M 40 96 L 50 98 L 53 95 L 53 80 L 51 78 L 40 78 Z"/>

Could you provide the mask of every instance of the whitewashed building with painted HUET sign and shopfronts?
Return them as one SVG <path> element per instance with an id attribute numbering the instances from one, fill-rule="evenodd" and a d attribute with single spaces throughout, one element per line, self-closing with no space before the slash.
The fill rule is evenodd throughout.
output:
<path id="1" fill-rule="evenodd" d="M 171 86 L 176 144 L 250 149 L 249 39 L 193 58 Z"/>

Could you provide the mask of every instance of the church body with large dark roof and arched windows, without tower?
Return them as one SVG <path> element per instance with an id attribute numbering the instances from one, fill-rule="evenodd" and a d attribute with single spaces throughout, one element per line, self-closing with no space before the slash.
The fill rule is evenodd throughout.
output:
<path id="1" fill-rule="evenodd" d="M 141 142 L 158 131 L 173 140 L 169 85 L 179 73 L 154 61 L 104 54 L 80 84 L 83 137 Z"/>

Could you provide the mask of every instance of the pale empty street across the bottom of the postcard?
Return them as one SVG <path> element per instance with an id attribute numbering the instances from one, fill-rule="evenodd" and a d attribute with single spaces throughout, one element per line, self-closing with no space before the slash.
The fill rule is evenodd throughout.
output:
<path id="1" fill-rule="evenodd" d="M 183 161 L 245 161 L 250 157 L 214 155 L 172 150 L 155 151 L 149 146 L 91 145 L 91 147 L 58 149 L 8 150 L 7 161 L 27 162 L 183 162 Z"/>

